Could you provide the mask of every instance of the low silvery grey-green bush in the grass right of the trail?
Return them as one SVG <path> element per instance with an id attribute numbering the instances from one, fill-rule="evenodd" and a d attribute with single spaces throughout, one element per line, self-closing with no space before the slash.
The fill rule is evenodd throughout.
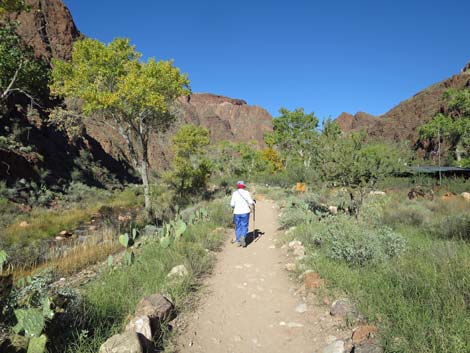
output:
<path id="1" fill-rule="evenodd" d="M 351 265 L 379 263 L 400 255 L 405 249 L 405 239 L 388 227 L 370 227 L 347 216 L 330 217 L 322 222 L 326 227 L 320 239 L 334 260 Z"/>

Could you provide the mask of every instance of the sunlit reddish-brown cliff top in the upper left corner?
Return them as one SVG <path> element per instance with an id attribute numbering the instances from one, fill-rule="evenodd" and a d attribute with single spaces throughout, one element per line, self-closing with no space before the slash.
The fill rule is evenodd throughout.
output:
<path id="1" fill-rule="evenodd" d="M 30 11 L 11 15 L 19 22 L 18 34 L 37 56 L 68 60 L 72 45 L 80 37 L 72 15 L 61 0 L 26 0 Z"/>

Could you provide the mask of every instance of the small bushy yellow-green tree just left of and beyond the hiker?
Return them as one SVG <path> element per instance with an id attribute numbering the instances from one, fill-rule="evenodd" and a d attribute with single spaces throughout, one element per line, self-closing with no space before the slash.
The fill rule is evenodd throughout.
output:
<path id="1" fill-rule="evenodd" d="M 172 138 L 175 157 L 166 181 L 181 197 L 203 191 L 212 165 L 206 157 L 209 130 L 202 126 L 182 125 Z"/>

